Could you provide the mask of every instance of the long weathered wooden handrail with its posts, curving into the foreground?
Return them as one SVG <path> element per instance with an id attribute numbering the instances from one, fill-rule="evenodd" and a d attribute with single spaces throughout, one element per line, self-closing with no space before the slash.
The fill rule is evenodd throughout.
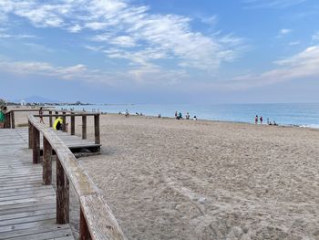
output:
<path id="1" fill-rule="evenodd" d="M 80 203 L 80 239 L 126 240 L 127 237 L 123 234 L 108 204 L 103 200 L 98 187 L 77 163 L 67 145 L 57 137 L 54 130 L 46 128 L 35 116 L 28 115 L 28 121 L 31 132 L 38 131 L 44 137 L 43 166 L 48 168 L 44 169 L 46 184 L 50 183 L 51 179 L 51 176 L 46 174 L 51 174 L 48 170 L 51 168 L 52 150 L 57 154 L 57 223 L 68 223 L 68 181 L 70 181 Z M 33 148 L 39 148 L 39 144 L 32 145 Z M 34 150 L 34 153 L 38 154 L 37 150 Z"/>

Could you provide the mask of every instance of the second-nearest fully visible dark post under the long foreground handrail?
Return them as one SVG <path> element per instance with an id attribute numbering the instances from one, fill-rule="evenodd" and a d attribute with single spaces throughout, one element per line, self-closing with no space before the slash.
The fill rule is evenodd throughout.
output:
<path id="1" fill-rule="evenodd" d="M 52 147 L 43 136 L 43 183 L 51 185 L 52 183 Z"/>

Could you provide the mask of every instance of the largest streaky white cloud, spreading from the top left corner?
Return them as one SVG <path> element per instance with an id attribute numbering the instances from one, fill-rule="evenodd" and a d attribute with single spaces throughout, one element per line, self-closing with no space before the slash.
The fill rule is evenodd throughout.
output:
<path id="1" fill-rule="evenodd" d="M 61 27 L 73 33 L 90 29 L 93 33 L 86 32 L 87 39 L 116 48 L 104 51 L 107 57 L 126 58 L 140 67 L 160 66 L 154 61 L 173 58 L 171 68 L 211 72 L 239 57 L 243 45 L 240 37 L 193 31 L 189 17 L 151 14 L 148 6 L 125 0 L 0 0 L 0 12 L 25 17 L 36 27 Z M 212 23 L 216 16 L 206 21 Z"/>

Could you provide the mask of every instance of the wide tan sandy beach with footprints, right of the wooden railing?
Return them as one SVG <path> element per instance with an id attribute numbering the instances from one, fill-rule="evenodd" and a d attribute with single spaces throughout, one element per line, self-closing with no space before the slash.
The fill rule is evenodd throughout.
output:
<path id="1" fill-rule="evenodd" d="M 319 239 L 319 130 L 116 114 L 100 124 L 102 154 L 78 161 L 129 239 Z"/>

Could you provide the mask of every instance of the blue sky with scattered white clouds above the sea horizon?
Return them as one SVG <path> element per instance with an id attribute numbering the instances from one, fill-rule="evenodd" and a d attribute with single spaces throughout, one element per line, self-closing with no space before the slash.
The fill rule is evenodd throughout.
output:
<path id="1" fill-rule="evenodd" d="M 317 0 L 0 0 L 0 98 L 319 102 Z"/>

